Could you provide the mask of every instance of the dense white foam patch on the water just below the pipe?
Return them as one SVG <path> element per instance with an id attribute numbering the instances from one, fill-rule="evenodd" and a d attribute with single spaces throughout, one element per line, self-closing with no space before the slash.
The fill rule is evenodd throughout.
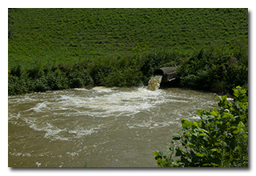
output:
<path id="1" fill-rule="evenodd" d="M 166 102 L 159 95 L 161 90 L 151 91 L 137 88 L 133 91 L 118 91 L 108 88 L 95 88 L 107 94 L 94 94 L 90 97 L 62 95 L 58 106 L 63 109 L 76 110 L 78 114 L 90 116 L 110 117 L 137 114 L 141 110 L 148 110 L 159 103 Z M 103 91 L 102 91 L 103 90 Z"/>

